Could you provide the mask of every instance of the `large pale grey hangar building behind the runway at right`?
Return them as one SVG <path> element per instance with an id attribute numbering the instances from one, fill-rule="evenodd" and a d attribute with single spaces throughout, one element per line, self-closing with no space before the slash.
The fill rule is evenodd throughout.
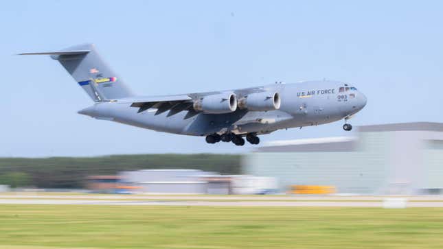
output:
<path id="1" fill-rule="evenodd" d="M 247 154 L 246 174 L 337 193 L 443 193 L 443 123 L 361 126 L 355 137 L 275 141 Z"/>

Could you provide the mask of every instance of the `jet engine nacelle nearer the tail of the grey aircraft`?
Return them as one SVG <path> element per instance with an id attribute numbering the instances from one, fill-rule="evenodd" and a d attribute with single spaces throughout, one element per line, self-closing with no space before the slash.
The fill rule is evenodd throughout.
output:
<path id="1" fill-rule="evenodd" d="M 194 102 L 194 110 L 210 114 L 235 112 L 237 110 L 237 97 L 234 93 L 208 95 Z"/>

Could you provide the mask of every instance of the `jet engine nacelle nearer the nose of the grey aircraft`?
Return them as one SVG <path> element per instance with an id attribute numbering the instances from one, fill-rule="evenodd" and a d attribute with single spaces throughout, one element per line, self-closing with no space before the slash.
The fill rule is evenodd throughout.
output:
<path id="1" fill-rule="evenodd" d="M 240 99 L 238 107 L 253 111 L 278 110 L 280 108 L 281 99 L 278 93 L 252 93 Z"/>

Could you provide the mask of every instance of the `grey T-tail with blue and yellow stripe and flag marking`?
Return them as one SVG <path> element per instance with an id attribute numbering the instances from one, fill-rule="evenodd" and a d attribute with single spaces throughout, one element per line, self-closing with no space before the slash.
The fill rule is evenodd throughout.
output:
<path id="1" fill-rule="evenodd" d="M 77 45 L 61 51 L 21 55 L 49 55 L 58 60 L 94 102 L 133 96 L 124 81 L 102 60 L 93 44 Z"/>

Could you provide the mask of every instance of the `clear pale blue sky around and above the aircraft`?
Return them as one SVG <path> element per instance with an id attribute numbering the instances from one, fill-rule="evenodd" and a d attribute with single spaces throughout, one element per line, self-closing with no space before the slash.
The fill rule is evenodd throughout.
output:
<path id="1" fill-rule="evenodd" d="M 93 120 L 54 60 L 14 56 L 95 43 L 142 95 L 342 80 L 368 103 L 354 126 L 442 122 L 442 1 L 5 1 L 0 8 L 0 156 L 237 153 Z M 337 122 L 262 141 L 343 136 Z"/>

